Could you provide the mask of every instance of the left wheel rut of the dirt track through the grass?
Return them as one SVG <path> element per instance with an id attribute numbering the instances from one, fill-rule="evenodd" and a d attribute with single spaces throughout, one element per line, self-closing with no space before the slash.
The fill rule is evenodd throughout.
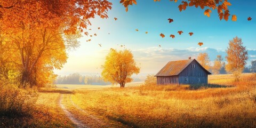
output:
<path id="1" fill-rule="evenodd" d="M 78 128 L 86 128 L 86 127 L 89 127 L 89 126 L 85 125 L 84 123 L 82 123 L 81 121 L 79 121 L 78 119 L 76 119 L 76 118 L 74 117 L 74 115 L 71 114 L 71 113 L 66 109 L 66 107 L 61 103 L 61 101 L 62 101 L 62 95 L 63 95 L 63 94 L 60 95 L 59 105 L 60 105 L 61 109 L 62 109 L 63 111 L 65 111 L 65 114 L 67 115 L 67 117 L 68 117 L 68 118 L 76 125 L 76 127 L 78 127 Z"/>

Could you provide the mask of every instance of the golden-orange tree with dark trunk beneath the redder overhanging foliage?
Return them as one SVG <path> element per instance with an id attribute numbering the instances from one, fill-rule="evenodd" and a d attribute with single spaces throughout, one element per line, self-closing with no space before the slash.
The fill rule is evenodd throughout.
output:
<path id="1" fill-rule="evenodd" d="M 5 37 L 9 38 L 6 45 L 12 47 L 11 59 L 21 74 L 21 87 L 27 83 L 30 87 L 42 85 L 51 78 L 53 68 L 60 69 L 66 63 L 66 44 L 70 44 L 70 35 L 64 38 L 59 29 L 34 29 L 23 24 L 17 29 L 9 29 L 15 34 L 6 34 Z"/>

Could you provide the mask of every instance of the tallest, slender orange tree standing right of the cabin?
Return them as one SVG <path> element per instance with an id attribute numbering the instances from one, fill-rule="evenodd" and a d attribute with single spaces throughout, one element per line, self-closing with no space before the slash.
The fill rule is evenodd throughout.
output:
<path id="1" fill-rule="evenodd" d="M 247 50 L 245 49 L 245 46 L 243 46 L 242 39 L 236 36 L 233 40 L 229 41 L 229 47 L 226 52 L 226 59 L 228 62 L 226 70 L 234 74 L 235 81 L 239 81 L 239 77 L 244 70 L 246 60 L 248 59 Z"/>

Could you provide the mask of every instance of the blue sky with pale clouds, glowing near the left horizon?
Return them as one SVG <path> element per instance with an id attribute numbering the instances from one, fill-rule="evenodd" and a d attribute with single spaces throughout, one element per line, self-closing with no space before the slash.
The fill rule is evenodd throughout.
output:
<path id="1" fill-rule="evenodd" d="M 181 1 L 138 0 L 137 5 L 129 6 L 128 12 L 119 1 L 110 2 L 113 9 L 108 12 L 108 19 L 91 19 L 92 26 L 89 28 L 92 30 L 89 33 L 96 33 L 97 36 L 80 38 L 81 46 L 68 52 L 67 63 L 55 73 L 100 74 L 100 66 L 109 49 L 124 49 L 120 45 L 130 49 L 135 61 L 141 63 L 141 73 L 157 73 L 168 61 L 187 59 L 189 56 L 196 58 L 201 52 L 209 53 L 211 60 L 217 54 L 222 54 L 224 58 L 229 40 L 235 36 L 242 38 L 244 46 L 249 49 L 249 64 L 256 59 L 256 1 L 229 1 L 232 4 L 229 11 L 237 15 L 236 22 L 231 21 L 231 17 L 229 21 L 220 21 L 217 10 L 212 11 L 211 17 L 204 15 L 205 9 L 195 7 L 180 12 L 178 5 Z M 252 20 L 247 21 L 247 17 L 252 17 Z M 118 19 L 115 21 L 114 18 Z M 169 23 L 169 18 L 174 22 Z M 179 35 L 179 30 L 184 33 Z M 146 31 L 148 34 L 145 34 Z M 194 35 L 189 36 L 189 32 Z M 164 38 L 159 36 L 161 33 L 165 35 Z M 169 37 L 170 34 L 175 38 Z M 92 41 L 86 42 L 87 39 Z M 198 42 L 204 45 L 200 47 Z"/>

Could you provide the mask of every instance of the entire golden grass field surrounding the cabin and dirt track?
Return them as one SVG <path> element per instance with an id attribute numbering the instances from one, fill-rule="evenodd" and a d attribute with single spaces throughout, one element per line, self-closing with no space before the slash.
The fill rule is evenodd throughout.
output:
<path id="1" fill-rule="evenodd" d="M 57 87 L 39 90 L 37 112 L 26 126 L 256 127 L 255 74 L 242 74 L 240 82 L 234 82 L 232 75 L 210 75 L 206 87 L 142 83 L 124 89 Z M 70 121 L 60 103 L 78 123 Z"/>

